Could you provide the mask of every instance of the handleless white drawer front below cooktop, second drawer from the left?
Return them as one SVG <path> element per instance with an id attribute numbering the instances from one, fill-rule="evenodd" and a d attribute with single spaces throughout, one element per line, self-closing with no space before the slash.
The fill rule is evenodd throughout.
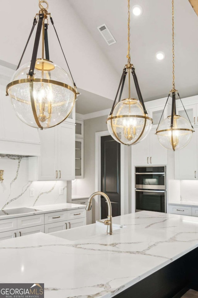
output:
<path id="1" fill-rule="evenodd" d="M 17 218 L 17 229 L 40 226 L 44 224 L 44 214 L 24 216 Z"/>

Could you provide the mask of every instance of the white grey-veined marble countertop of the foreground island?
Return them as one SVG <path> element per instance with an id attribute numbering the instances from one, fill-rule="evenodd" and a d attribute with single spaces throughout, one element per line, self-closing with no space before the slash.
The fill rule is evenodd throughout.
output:
<path id="1" fill-rule="evenodd" d="M 113 224 L 124 227 L 78 241 L 43 233 L 0 241 L 0 282 L 44 283 L 45 298 L 110 298 L 198 247 L 196 217 L 140 211 Z"/>

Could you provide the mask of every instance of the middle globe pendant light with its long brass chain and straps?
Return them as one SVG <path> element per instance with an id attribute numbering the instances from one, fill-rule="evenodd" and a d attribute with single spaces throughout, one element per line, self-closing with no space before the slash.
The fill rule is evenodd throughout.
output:
<path id="1" fill-rule="evenodd" d="M 148 134 L 153 119 L 148 117 L 144 101 L 137 81 L 135 68 L 130 58 L 130 0 L 128 0 L 128 63 L 123 69 L 123 74 L 118 86 L 118 91 L 107 118 L 107 127 L 114 140 L 125 145 L 134 145 L 142 141 Z M 121 100 L 123 87 L 128 74 L 129 97 Z M 131 74 L 134 79 L 138 99 L 131 98 Z M 119 93 L 120 92 L 120 93 Z M 115 105 L 119 93 L 118 103 Z M 120 101 L 121 100 L 121 101 Z"/>

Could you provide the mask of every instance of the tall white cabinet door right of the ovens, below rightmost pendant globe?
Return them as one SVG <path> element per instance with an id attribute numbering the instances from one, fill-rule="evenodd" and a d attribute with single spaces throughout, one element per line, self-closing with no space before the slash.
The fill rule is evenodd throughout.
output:
<path id="1" fill-rule="evenodd" d="M 197 180 L 197 134 L 198 128 L 186 147 L 174 152 L 175 179 Z"/>

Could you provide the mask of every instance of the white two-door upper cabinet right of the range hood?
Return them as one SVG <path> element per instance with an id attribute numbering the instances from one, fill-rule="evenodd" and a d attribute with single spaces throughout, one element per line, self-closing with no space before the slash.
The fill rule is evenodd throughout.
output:
<path id="1" fill-rule="evenodd" d="M 29 180 L 74 180 L 75 125 L 62 122 L 40 137 L 41 156 L 29 157 Z"/>

